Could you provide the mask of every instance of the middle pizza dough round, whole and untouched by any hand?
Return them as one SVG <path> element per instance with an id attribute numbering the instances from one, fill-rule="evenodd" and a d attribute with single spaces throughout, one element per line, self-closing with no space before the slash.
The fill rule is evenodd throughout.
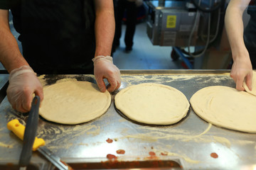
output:
<path id="1" fill-rule="evenodd" d="M 162 84 L 129 86 L 119 91 L 114 104 L 128 118 L 151 125 L 177 123 L 186 116 L 189 108 L 181 91 Z"/>

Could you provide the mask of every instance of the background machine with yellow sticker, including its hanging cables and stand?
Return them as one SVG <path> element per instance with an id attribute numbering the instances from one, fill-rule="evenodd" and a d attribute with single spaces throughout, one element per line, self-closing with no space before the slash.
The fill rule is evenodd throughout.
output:
<path id="1" fill-rule="evenodd" d="M 153 45 L 174 47 L 171 58 L 181 57 L 188 69 L 228 69 L 227 4 L 225 0 L 146 1 L 146 33 Z"/>

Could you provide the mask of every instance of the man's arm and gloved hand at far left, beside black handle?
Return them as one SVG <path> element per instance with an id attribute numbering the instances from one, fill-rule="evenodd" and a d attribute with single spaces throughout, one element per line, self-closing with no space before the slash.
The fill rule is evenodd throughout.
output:
<path id="1" fill-rule="evenodd" d="M 18 49 L 9 27 L 9 10 L 0 9 L 0 62 L 10 73 L 7 98 L 16 110 L 31 110 L 33 94 L 43 101 L 43 86 Z"/>

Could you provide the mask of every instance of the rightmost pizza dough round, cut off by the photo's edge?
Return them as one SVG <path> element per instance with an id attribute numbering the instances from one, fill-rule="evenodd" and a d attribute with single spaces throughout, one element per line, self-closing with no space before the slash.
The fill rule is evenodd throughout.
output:
<path id="1" fill-rule="evenodd" d="M 191 97 L 193 111 L 213 125 L 256 132 L 256 96 L 228 86 L 208 86 Z"/>

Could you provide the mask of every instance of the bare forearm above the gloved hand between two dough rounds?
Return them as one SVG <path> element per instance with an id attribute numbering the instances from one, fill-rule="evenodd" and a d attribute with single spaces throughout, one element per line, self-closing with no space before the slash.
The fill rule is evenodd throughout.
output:
<path id="1" fill-rule="evenodd" d="M 96 0 L 95 3 L 100 3 L 100 2 Z M 112 42 L 114 39 L 115 26 L 114 26 L 114 9 L 113 9 L 112 0 L 105 0 L 105 2 L 103 3 L 105 4 L 96 5 L 95 56 L 111 55 Z"/>

